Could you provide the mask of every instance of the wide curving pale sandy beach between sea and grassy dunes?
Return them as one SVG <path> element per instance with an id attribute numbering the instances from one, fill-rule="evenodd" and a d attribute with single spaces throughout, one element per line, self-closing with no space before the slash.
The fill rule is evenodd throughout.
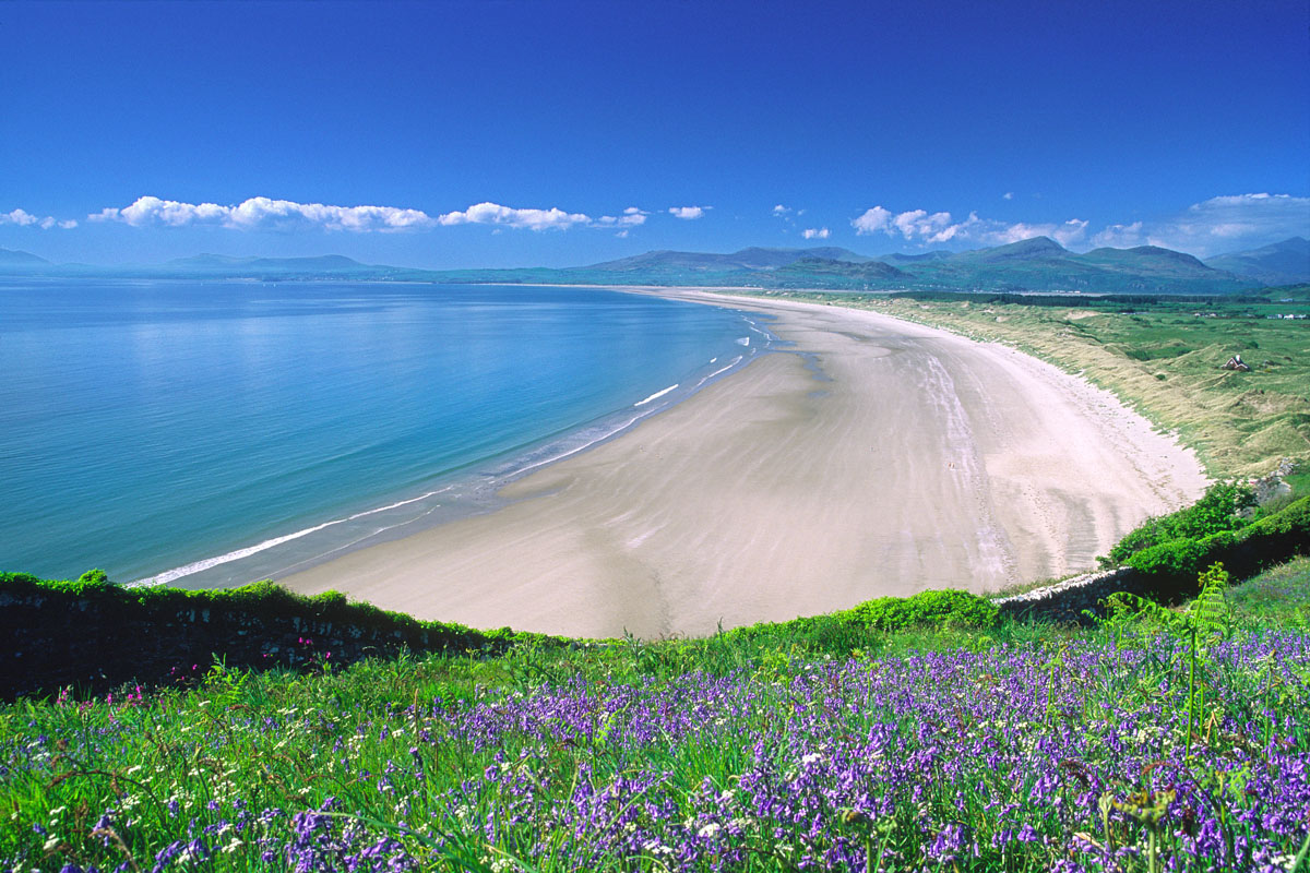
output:
<path id="1" fill-rule="evenodd" d="M 1207 484 L 1111 394 L 1014 349 L 837 306 L 660 291 L 794 346 L 502 493 L 282 581 L 474 627 L 702 635 L 1091 568 Z"/>

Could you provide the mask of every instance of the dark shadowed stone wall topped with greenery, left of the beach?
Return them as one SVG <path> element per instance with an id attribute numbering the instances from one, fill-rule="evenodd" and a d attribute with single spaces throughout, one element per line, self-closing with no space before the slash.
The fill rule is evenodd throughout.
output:
<path id="1" fill-rule="evenodd" d="M 0 584 L 0 699 L 189 685 L 216 658 L 236 668 L 322 670 L 369 656 L 503 648 L 511 636 L 346 603 L 343 597 L 141 596 L 33 580 Z M 203 594 L 210 594 L 204 597 Z"/>

